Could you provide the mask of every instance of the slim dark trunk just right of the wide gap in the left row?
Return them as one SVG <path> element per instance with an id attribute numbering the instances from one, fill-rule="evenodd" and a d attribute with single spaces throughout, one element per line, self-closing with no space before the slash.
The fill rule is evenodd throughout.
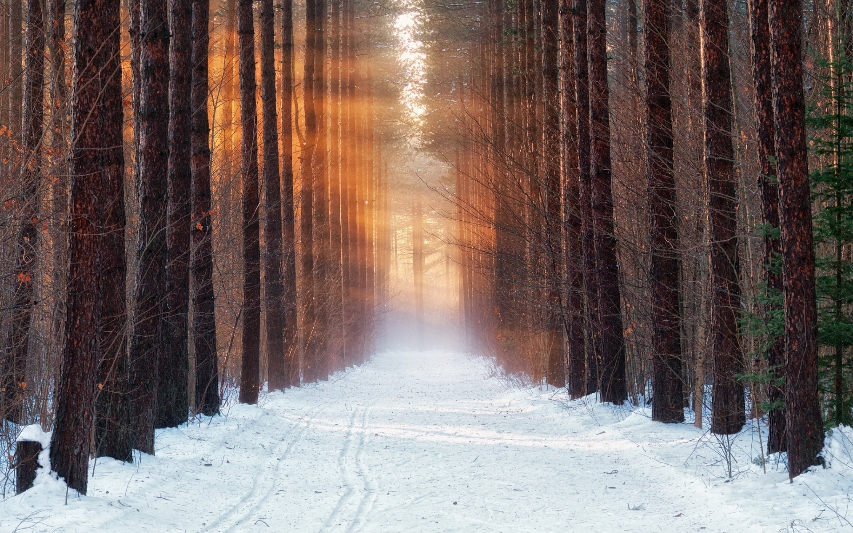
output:
<path id="1" fill-rule="evenodd" d="M 258 111 L 252 0 L 237 4 L 240 46 L 241 182 L 243 188 L 243 359 L 240 403 L 258 403 L 260 391 L 261 250 L 258 217 Z"/>

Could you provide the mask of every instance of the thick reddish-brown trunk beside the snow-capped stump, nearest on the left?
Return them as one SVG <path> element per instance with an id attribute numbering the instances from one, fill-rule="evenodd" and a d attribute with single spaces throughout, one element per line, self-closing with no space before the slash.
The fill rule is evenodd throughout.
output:
<path id="1" fill-rule="evenodd" d="M 80 31 L 73 44 L 68 288 L 50 467 L 85 494 L 98 363 L 106 339 L 103 310 L 115 309 L 115 298 L 124 299 L 123 290 L 107 292 L 115 285 L 104 271 L 117 251 L 123 255 L 119 235 L 124 226 L 102 217 L 105 211 L 124 211 L 117 209 L 124 207 L 119 0 L 75 3 L 74 26 Z"/>

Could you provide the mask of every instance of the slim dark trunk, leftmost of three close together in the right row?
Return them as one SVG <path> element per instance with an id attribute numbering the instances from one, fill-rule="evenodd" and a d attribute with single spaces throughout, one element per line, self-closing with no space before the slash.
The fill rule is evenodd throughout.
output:
<path id="1" fill-rule="evenodd" d="M 563 220 L 566 259 L 566 390 L 583 396 L 586 379 L 583 344 L 583 248 L 581 235 L 580 167 L 577 139 L 577 71 L 571 0 L 560 1 L 560 111 L 563 159 Z"/>

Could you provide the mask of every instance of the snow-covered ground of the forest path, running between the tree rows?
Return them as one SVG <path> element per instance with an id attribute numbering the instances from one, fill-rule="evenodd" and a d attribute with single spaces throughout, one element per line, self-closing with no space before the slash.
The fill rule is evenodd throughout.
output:
<path id="1" fill-rule="evenodd" d="M 0 531 L 853 531 L 853 431 L 789 484 L 757 434 L 724 447 L 646 408 L 516 390 L 482 359 L 386 352 L 328 382 L 93 461 L 89 495 L 40 474 Z M 67 503 L 66 503 L 67 498 Z"/>

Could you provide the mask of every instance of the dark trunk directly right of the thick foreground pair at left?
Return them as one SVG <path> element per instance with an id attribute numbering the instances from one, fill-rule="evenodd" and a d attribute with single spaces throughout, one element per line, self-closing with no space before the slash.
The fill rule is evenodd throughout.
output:
<path id="1" fill-rule="evenodd" d="M 169 26 L 165 0 L 141 0 L 139 229 L 131 333 L 134 448 L 154 454 L 158 365 L 165 357 L 166 200 L 169 158 Z"/>

